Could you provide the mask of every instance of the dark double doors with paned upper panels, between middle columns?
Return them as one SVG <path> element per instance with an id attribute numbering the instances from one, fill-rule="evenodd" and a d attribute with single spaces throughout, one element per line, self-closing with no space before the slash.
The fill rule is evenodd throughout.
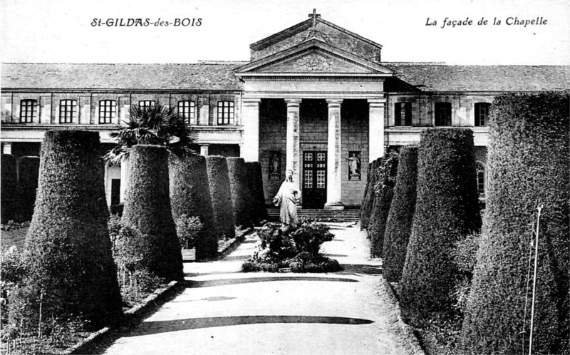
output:
<path id="1" fill-rule="evenodd" d="M 324 208 L 326 203 L 326 152 L 303 152 L 303 208 Z"/>

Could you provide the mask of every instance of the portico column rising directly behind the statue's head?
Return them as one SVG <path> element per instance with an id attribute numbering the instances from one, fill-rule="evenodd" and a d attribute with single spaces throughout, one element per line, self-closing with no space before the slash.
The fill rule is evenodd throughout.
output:
<path id="1" fill-rule="evenodd" d="M 301 158 L 299 133 L 301 132 L 299 105 L 301 98 L 286 98 L 287 134 L 286 134 L 286 170 L 293 170 L 293 181 L 301 188 Z"/>

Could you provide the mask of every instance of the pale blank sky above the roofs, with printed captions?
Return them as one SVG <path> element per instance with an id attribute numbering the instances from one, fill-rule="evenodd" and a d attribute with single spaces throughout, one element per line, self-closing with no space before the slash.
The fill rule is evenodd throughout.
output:
<path id="1" fill-rule="evenodd" d="M 323 19 L 383 45 L 382 61 L 570 64 L 568 0 L 1 0 L 0 6 L 4 63 L 248 61 L 249 44 L 316 8 Z M 472 24 L 443 26 L 446 18 Z M 482 18 L 487 25 L 477 24 Z M 523 24 L 512 24 L 515 18 Z M 99 19 L 101 26 L 92 26 Z M 107 26 L 108 19 L 150 25 Z M 190 24 L 173 26 L 176 19 Z M 524 26 L 525 20 L 541 24 Z"/>

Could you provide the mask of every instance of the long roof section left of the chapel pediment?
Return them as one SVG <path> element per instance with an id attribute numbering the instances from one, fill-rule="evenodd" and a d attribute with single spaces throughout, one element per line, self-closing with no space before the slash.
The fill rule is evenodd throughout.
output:
<path id="1" fill-rule="evenodd" d="M 247 62 L 195 64 L 2 63 L 1 87 L 241 91 L 233 68 Z"/>

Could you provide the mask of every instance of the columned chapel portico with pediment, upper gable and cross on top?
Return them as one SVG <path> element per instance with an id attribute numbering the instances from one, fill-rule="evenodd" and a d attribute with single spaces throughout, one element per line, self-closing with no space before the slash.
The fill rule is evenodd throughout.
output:
<path id="1" fill-rule="evenodd" d="M 366 179 L 360 167 L 366 171 L 368 162 L 384 153 L 383 83 L 385 78 L 393 76 L 393 71 L 378 63 L 381 50 L 378 43 L 341 29 L 316 14 L 309 17 L 301 24 L 253 43 L 252 61 L 236 69 L 237 77 L 244 83 L 242 156 L 264 164 L 261 155 L 271 150 L 266 165 L 279 156 L 284 158 L 282 170 L 293 170 L 294 180 L 302 188 L 323 187 L 323 182 L 326 183 L 326 200 L 320 208 L 341 210 L 348 186 Z M 268 101 L 271 102 L 264 104 Z M 260 103 L 271 106 L 261 109 L 263 117 L 260 117 Z M 367 112 L 363 105 L 368 106 Z M 279 153 L 277 131 L 271 133 L 274 142 L 270 142 L 269 148 L 260 146 L 260 124 L 263 126 L 263 120 L 281 116 L 286 120 L 284 157 Z M 356 139 L 355 134 L 348 132 L 353 125 L 349 120 L 357 125 L 368 123 L 365 142 L 349 142 Z M 343 132 L 345 123 L 347 132 Z M 279 126 L 279 122 L 274 125 Z M 304 125 L 308 127 L 306 132 Z M 354 168 L 348 171 L 350 168 L 346 167 L 352 160 L 356 160 Z M 268 174 L 271 185 L 273 175 Z M 279 178 L 282 181 L 284 176 Z M 268 194 L 271 195 L 271 190 L 266 190 Z M 309 205 L 308 195 L 303 195 L 303 205 Z"/>

